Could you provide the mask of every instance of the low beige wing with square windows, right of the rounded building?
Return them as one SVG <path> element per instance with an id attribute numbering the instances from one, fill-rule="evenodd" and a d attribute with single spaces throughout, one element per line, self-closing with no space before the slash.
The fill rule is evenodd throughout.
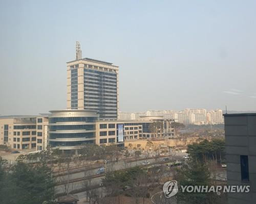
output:
<path id="1" fill-rule="evenodd" d="M 96 121 L 96 144 L 110 145 L 129 140 L 172 138 L 175 130 L 171 123 L 174 120 L 159 116 L 144 116 L 137 120 L 98 120 Z M 162 124 L 162 130 L 152 133 L 151 126 L 156 122 Z M 121 134 L 121 140 L 120 135 Z"/>

